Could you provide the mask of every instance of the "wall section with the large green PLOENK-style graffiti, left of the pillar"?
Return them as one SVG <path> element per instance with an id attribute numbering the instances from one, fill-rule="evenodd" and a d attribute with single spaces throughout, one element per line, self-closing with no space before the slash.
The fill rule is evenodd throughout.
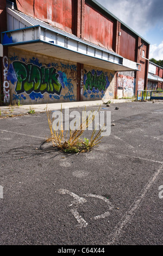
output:
<path id="1" fill-rule="evenodd" d="M 7 80 L 12 103 L 77 100 L 77 63 L 9 48 Z"/>

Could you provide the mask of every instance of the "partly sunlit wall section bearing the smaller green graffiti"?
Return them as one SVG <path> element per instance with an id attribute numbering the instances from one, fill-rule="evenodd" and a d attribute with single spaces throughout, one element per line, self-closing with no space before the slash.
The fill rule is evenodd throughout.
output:
<path id="1" fill-rule="evenodd" d="M 115 72 L 84 65 L 83 100 L 114 99 Z"/>

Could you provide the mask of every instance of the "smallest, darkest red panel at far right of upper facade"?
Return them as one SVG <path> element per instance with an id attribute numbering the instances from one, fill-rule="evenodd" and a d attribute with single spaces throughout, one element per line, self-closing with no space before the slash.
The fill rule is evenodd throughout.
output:
<path id="1" fill-rule="evenodd" d="M 121 28 L 120 55 L 135 61 L 136 38 Z"/>

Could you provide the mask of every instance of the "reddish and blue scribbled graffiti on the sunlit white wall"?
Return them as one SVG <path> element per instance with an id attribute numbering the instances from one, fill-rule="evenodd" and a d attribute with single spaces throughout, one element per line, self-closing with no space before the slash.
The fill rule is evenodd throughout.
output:
<path id="1" fill-rule="evenodd" d="M 134 77 L 118 75 L 117 83 L 118 89 L 122 90 L 123 97 L 134 96 Z"/>

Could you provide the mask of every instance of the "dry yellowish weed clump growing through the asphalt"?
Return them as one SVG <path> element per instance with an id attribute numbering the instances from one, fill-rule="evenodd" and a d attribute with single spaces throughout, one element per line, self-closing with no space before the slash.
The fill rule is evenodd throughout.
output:
<path id="1" fill-rule="evenodd" d="M 101 106 L 100 106 L 101 107 Z M 99 108 L 100 108 L 99 107 Z M 99 112 L 96 112 L 96 114 Z M 86 110 L 86 109 L 85 109 Z M 85 130 L 90 126 L 90 124 L 95 119 L 95 115 L 93 114 L 94 111 L 91 111 L 91 113 L 86 117 L 86 111 L 84 112 L 84 115 L 82 117 L 82 123 L 78 126 L 77 129 L 75 129 L 76 123 L 74 123 L 73 129 L 66 132 L 66 135 L 64 135 L 63 130 L 63 124 L 61 120 L 61 129 L 53 129 L 53 121 L 55 118 L 51 120 L 51 111 L 49 111 L 46 107 L 46 113 L 48 117 L 48 125 L 49 129 L 51 131 L 51 137 L 46 139 L 46 142 L 52 142 L 53 147 L 58 148 L 60 151 L 64 151 L 65 153 L 80 153 L 80 152 L 86 152 L 90 151 L 93 147 L 97 146 L 100 142 L 103 136 L 101 136 L 101 133 L 104 130 L 104 125 L 102 128 L 96 133 L 96 127 L 92 131 L 91 138 L 82 138 L 83 133 Z M 61 108 L 61 114 L 62 114 L 62 108 Z M 99 136 L 101 136 L 99 138 Z"/>

